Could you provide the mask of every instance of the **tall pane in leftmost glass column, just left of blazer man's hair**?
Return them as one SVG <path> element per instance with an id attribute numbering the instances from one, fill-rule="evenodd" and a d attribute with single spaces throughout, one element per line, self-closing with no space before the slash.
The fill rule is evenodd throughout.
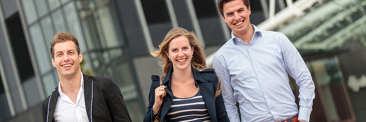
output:
<path id="1" fill-rule="evenodd" d="M 42 74 L 47 73 L 51 70 L 51 58 L 49 58 L 49 51 L 46 50 L 45 41 L 43 40 L 43 34 L 41 32 L 41 27 L 38 23 L 34 24 L 29 28 L 30 36 L 33 42 L 33 47 L 35 55 L 37 58 L 39 69 Z"/>

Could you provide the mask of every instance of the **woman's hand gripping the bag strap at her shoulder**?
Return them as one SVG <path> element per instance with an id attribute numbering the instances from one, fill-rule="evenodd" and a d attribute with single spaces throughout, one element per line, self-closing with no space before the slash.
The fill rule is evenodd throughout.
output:
<path id="1" fill-rule="evenodd" d="M 167 95 L 167 92 L 164 88 L 166 88 L 166 86 L 162 85 L 155 89 L 155 103 L 153 106 L 154 113 L 159 112 L 160 106 L 163 103 L 163 97 Z"/>

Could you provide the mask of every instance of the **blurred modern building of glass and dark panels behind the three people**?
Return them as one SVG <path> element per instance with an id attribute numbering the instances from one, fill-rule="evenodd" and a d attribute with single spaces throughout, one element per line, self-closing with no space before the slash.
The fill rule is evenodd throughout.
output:
<path id="1" fill-rule="evenodd" d="M 51 63 L 55 33 L 80 43 L 83 73 L 111 77 L 133 122 L 142 122 L 151 74 L 149 51 L 172 28 L 194 31 L 212 66 L 231 38 L 217 0 L 0 0 L 0 122 L 40 122 L 41 103 L 59 83 Z M 284 33 L 315 83 L 311 122 L 366 120 L 366 0 L 251 0 L 250 21 Z M 235 56 L 235 54 L 232 54 Z M 274 76 L 275 77 L 275 76 Z M 290 81 L 297 97 L 298 86 Z M 296 99 L 298 102 L 299 99 Z"/>

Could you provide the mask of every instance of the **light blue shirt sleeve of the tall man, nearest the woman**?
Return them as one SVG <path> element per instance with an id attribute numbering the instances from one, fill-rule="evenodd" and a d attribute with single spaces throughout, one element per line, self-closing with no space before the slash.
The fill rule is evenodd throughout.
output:
<path id="1" fill-rule="evenodd" d="M 231 77 L 229 71 L 225 67 L 221 60 L 215 55 L 212 61 L 213 69 L 215 69 L 217 75 L 221 80 L 222 90 L 221 93 L 223 95 L 223 100 L 225 103 L 225 108 L 228 114 L 228 117 L 231 122 L 240 122 L 238 108 L 235 106 L 236 101 L 234 99 L 234 89 L 232 88 L 230 82 Z"/>

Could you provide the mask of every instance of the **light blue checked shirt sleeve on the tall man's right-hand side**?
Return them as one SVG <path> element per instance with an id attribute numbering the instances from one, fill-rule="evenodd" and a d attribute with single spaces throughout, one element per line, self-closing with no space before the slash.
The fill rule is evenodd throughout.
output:
<path id="1" fill-rule="evenodd" d="M 315 97 L 314 82 L 299 51 L 284 34 L 281 35 L 283 60 L 286 64 L 288 74 L 296 80 L 296 84 L 299 86 L 300 109 L 298 119 L 309 121 L 310 113 L 313 110 L 313 99 Z"/>

